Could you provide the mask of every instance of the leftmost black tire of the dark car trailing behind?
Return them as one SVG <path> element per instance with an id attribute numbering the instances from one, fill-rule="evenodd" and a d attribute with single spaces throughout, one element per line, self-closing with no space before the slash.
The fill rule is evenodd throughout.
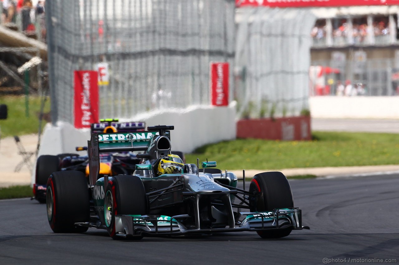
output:
<path id="1" fill-rule="evenodd" d="M 38 185 L 46 185 L 51 173 L 59 171 L 59 158 L 57 156 L 39 156 L 36 162 L 36 181 Z M 46 203 L 45 197 L 35 195 L 39 203 Z"/>

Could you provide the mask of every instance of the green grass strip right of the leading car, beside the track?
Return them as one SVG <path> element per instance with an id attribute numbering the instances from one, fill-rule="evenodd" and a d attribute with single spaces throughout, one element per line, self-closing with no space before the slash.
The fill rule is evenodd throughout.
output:
<path id="1" fill-rule="evenodd" d="M 216 161 L 217 168 L 286 169 L 398 164 L 399 135 L 313 132 L 312 141 L 237 139 L 208 144 L 186 154 L 186 162 Z"/>

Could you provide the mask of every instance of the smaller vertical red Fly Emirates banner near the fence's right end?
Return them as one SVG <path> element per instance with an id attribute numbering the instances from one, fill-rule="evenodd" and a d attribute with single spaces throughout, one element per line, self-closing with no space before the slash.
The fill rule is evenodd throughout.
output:
<path id="1" fill-rule="evenodd" d="M 214 106 L 229 105 L 228 62 L 211 62 L 211 102 Z"/>

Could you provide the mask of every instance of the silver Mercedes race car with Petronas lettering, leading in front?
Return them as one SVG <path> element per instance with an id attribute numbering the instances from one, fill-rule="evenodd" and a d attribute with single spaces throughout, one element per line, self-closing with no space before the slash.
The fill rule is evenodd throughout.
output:
<path id="1" fill-rule="evenodd" d="M 281 172 L 255 175 L 249 190 L 216 162 L 183 164 L 171 154 L 173 126 L 140 133 L 91 134 L 89 185 L 81 171 L 53 172 L 47 181 L 47 218 L 53 232 L 106 229 L 114 240 L 217 232 L 257 232 L 282 238 L 302 226 Z M 132 175 L 101 175 L 100 155 L 144 151 Z M 244 176 L 245 181 L 245 176 Z M 240 211 L 243 209 L 244 211 Z"/>

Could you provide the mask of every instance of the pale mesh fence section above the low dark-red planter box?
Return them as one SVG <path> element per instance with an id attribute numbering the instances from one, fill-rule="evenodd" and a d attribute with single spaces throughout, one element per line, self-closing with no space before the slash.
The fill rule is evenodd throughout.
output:
<path id="1" fill-rule="evenodd" d="M 240 8 L 235 98 L 241 117 L 308 114 L 315 16 L 306 8 Z"/>

